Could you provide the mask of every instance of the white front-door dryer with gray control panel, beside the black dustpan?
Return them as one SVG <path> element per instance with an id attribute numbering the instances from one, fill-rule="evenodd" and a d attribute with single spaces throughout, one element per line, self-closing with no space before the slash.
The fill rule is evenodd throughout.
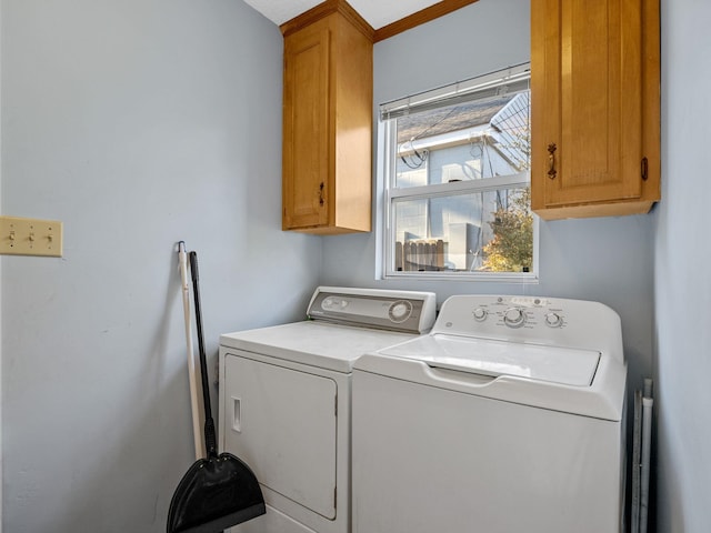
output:
<path id="1" fill-rule="evenodd" d="M 233 533 L 351 531 L 353 363 L 434 313 L 433 293 L 320 286 L 311 320 L 220 336 L 220 449 L 250 465 L 267 503 Z"/>

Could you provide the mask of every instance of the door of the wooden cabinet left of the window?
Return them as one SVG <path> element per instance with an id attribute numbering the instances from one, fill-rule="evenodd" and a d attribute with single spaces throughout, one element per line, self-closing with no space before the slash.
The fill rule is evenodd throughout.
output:
<path id="1" fill-rule="evenodd" d="M 284 40 L 283 229 L 328 223 L 330 31 Z"/>

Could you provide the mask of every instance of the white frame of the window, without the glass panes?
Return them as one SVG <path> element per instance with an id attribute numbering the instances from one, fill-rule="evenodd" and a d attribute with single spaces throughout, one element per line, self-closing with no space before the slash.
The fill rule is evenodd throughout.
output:
<path id="1" fill-rule="evenodd" d="M 378 253 L 379 278 L 399 280 L 445 280 L 445 281 L 483 281 L 493 283 L 538 283 L 539 281 L 539 218 L 533 214 L 533 264 L 530 272 L 479 272 L 479 271 L 395 271 L 394 264 L 394 209 L 393 202 L 399 199 L 421 199 L 449 197 L 463 193 L 480 193 L 504 189 L 520 189 L 530 187 L 530 171 L 518 174 L 487 178 L 484 180 L 467 180 L 450 183 L 440 183 L 421 187 L 394 187 L 395 157 L 397 157 L 397 128 L 394 118 L 382 118 L 388 113 L 400 113 L 402 110 L 420 105 L 434 104 L 455 99 L 470 100 L 473 92 L 478 94 L 501 94 L 505 91 L 507 81 L 511 86 L 520 88 L 523 81 L 528 83 L 530 66 L 528 63 L 493 72 L 484 77 L 458 82 L 444 88 L 415 94 L 380 107 L 378 120 L 378 155 L 377 155 L 377 184 L 379 194 L 378 209 L 378 237 L 380 253 Z M 510 86 L 510 87 L 511 87 Z M 503 89 L 502 89 L 503 88 Z M 520 89 L 518 89 L 520 90 Z M 485 92 L 484 92 L 485 91 Z M 481 98 L 481 97 L 474 97 Z M 407 111 L 405 111 L 407 112 Z"/>

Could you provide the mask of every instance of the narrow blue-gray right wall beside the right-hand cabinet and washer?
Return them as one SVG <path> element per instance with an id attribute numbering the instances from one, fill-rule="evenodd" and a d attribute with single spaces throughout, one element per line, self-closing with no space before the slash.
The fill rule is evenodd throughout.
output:
<path id="1" fill-rule="evenodd" d="M 709 531 L 711 480 L 711 3 L 662 0 L 662 177 L 657 212 L 659 533 Z"/>

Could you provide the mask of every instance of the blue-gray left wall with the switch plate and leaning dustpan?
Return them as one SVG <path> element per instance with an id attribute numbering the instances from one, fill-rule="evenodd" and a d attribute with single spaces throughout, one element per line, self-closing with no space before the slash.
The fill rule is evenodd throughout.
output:
<path id="1" fill-rule="evenodd" d="M 176 242 L 219 333 L 303 315 L 321 240 L 281 231 L 279 29 L 238 0 L 2 0 L 4 529 L 162 532 L 193 461 Z M 212 374 L 214 375 L 214 374 Z"/>

